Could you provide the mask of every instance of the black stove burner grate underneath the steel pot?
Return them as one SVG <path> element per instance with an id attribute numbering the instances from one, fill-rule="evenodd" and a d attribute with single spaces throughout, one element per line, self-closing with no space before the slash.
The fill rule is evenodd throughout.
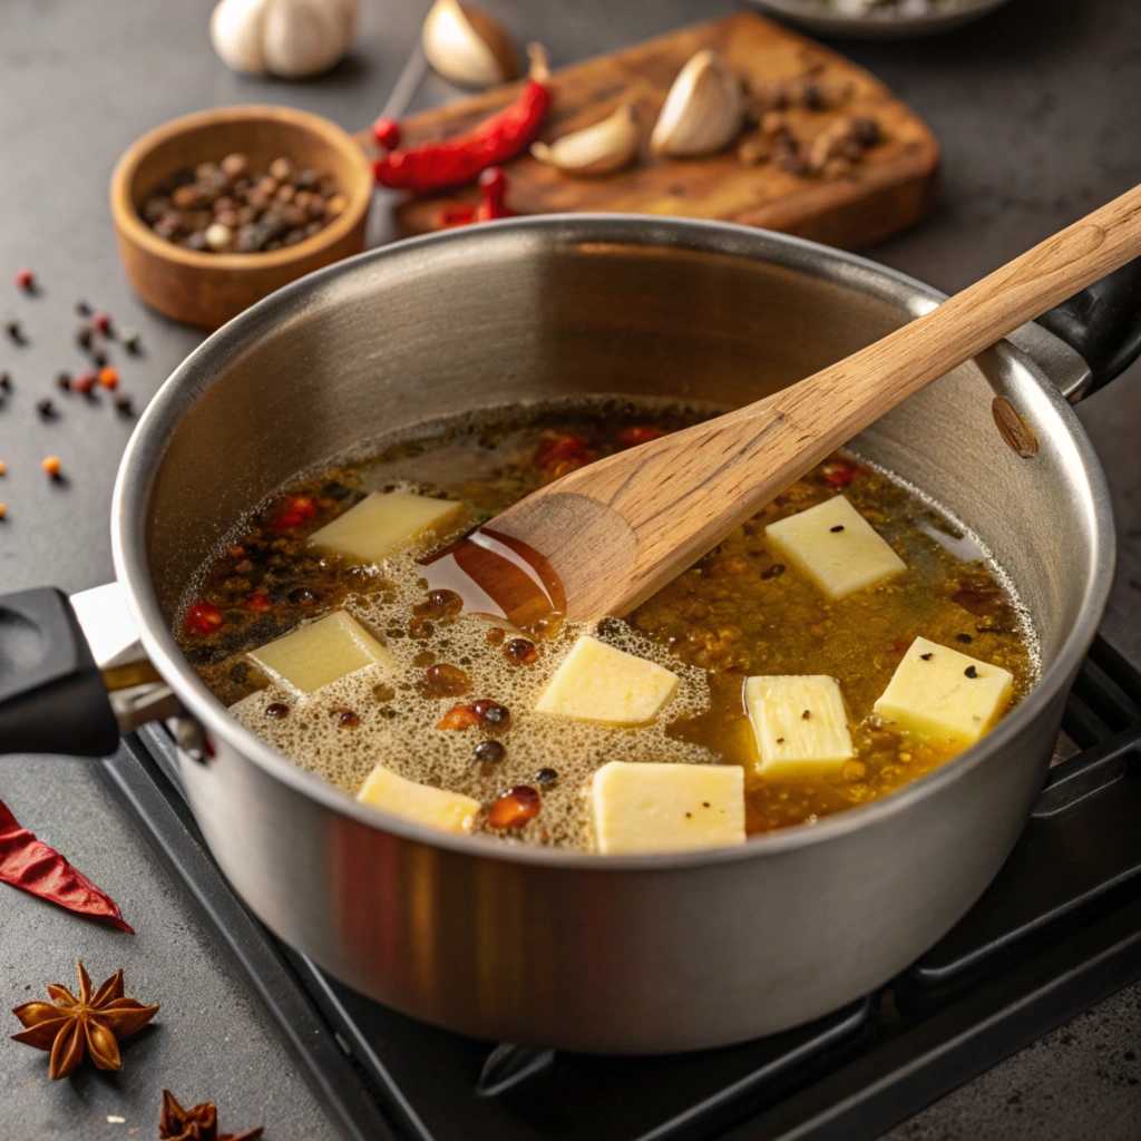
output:
<path id="1" fill-rule="evenodd" d="M 861 1141 L 1141 978 L 1141 674 L 1099 639 L 1034 815 L 970 914 L 893 984 L 722 1050 L 594 1058 L 477 1042 L 349 990 L 227 887 L 149 727 L 106 766 L 347 1138 Z"/>

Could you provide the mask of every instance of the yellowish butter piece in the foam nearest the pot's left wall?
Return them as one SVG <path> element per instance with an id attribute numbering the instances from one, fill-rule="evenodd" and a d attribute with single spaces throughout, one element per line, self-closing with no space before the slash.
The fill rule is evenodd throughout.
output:
<path id="1" fill-rule="evenodd" d="M 334 610 L 250 650 L 250 657 L 302 694 L 311 694 L 366 665 L 396 665 L 388 650 L 345 610 Z"/>

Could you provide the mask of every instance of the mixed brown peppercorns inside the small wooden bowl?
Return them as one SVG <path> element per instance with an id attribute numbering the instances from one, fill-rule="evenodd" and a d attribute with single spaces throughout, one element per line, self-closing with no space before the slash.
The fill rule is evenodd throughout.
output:
<path id="1" fill-rule="evenodd" d="M 176 171 L 139 212 L 155 234 L 185 249 L 261 253 L 311 237 L 347 207 L 348 199 L 322 171 L 280 157 L 268 170 L 251 172 L 248 156 L 235 153 Z M 133 343 L 128 351 L 137 351 L 137 334 Z"/>

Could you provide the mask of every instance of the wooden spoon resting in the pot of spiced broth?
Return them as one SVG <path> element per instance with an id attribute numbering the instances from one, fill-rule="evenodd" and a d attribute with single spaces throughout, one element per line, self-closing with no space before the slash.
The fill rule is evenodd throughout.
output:
<path id="1" fill-rule="evenodd" d="M 1139 254 L 1135 187 L 807 380 L 540 488 L 495 517 L 488 545 L 513 540 L 561 608 L 553 569 L 568 618 L 625 614 L 897 404 Z"/>

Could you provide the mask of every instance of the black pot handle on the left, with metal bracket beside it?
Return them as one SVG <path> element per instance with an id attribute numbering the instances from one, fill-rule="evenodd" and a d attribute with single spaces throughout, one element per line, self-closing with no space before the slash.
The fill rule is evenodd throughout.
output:
<path id="1" fill-rule="evenodd" d="M 106 756 L 119 721 L 67 597 L 0 594 L 0 754 Z"/>

